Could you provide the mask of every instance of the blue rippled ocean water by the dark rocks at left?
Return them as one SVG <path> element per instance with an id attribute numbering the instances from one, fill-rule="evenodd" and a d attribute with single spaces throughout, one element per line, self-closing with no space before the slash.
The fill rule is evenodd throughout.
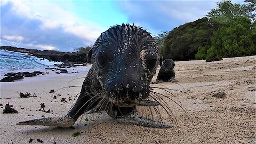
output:
<path id="1" fill-rule="evenodd" d="M 54 67 L 54 64 L 61 63 L 62 62 L 53 62 L 47 59 L 41 60 L 26 53 L 0 50 L 1 73 L 4 71 L 15 71 L 22 69 L 44 69 L 46 67 Z"/>

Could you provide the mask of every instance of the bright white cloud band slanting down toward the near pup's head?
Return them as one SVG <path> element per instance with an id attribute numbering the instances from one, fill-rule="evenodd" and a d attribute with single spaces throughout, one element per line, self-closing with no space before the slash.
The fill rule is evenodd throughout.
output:
<path id="1" fill-rule="evenodd" d="M 60 7 L 54 1 L 17 1 L 2 0 L 1 4 L 12 3 L 12 11 L 20 17 L 36 19 L 42 22 L 41 29 L 62 28 L 66 33 L 94 42 L 103 28 L 79 18 L 73 12 Z M 68 1 L 65 1 L 68 3 Z M 47 10 L 46 10 L 47 9 Z"/>

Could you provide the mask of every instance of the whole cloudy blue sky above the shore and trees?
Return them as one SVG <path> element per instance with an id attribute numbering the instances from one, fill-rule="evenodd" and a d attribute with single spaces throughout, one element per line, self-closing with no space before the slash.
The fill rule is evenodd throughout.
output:
<path id="1" fill-rule="evenodd" d="M 204 17 L 217 2 L 1 0 L 1 45 L 71 52 L 122 23 L 152 35 L 170 31 Z"/>

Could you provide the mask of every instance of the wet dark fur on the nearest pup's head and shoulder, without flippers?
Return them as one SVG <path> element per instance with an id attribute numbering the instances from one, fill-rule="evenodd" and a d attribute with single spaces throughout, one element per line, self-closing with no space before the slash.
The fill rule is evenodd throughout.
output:
<path id="1" fill-rule="evenodd" d="M 140 58 L 140 52 L 143 50 L 148 53 L 145 63 L 147 69 L 143 68 Z M 109 99 L 112 100 L 109 104 L 115 103 L 106 110 L 110 116 L 133 113 L 135 105 L 129 105 L 135 100 L 139 102 L 148 97 L 149 84 L 159 60 L 154 38 L 136 26 L 114 26 L 101 34 L 93 45 L 91 54 L 93 65 L 77 100 L 81 102 L 77 102 L 68 115 L 78 118 L 84 111 L 97 106 L 100 101 L 108 102 Z M 97 91 L 102 94 L 93 98 Z M 85 102 L 90 100 L 94 103 L 84 106 Z M 116 106 L 120 103 L 127 104 L 128 108 Z"/>

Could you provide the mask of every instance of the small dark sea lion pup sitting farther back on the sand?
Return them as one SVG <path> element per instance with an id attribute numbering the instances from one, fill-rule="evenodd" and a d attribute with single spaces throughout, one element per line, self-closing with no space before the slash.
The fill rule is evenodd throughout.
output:
<path id="1" fill-rule="evenodd" d="M 172 59 L 165 59 L 159 70 L 156 81 L 178 82 L 178 80 L 175 79 L 174 67 L 175 63 Z"/>

